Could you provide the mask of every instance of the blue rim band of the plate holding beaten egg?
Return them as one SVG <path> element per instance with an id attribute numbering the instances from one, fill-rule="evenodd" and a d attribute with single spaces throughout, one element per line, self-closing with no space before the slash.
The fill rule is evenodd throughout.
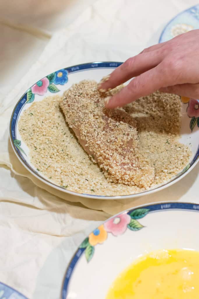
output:
<path id="1" fill-rule="evenodd" d="M 130 208 L 124 211 L 121 211 L 119 213 L 117 213 L 116 215 L 108 218 L 107 220 L 105 220 L 103 222 L 103 224 L 107 221 L 109 221 L 110 219 L 125 213 L 125 212 L 132 212 L 136 209 L 139 208 L 147 208 L 150 209 L 149 213 L 153 213 L 153 212 L 160 212 L 160 211 L 165 211 L 165 210 L 191 210 L 191 211 L 195 211 L 195 212 L 199 212 L 199 204 L 197 203 L 191 203 L 191 202 L 169 202 L 169 201 L 164 201 L 164 202 L 155 202 L 155 203 L 149 203 L 149 204 L 145 204 L 145 205 L 139 205 L 136 206 L 134 208 Z M 83 241 L 83 240 L 82 240 Z M 81 243 L 80 243 L 81 245 Z M 79 245 L 79 246 L 80 246 Z M 76 264 L 78 263 L 78 260 L 80 259 L 81 255 L 83 254 L 85 248 L 80 248 L 78 246 L 77 250 L 75 251 L 75 253 L 73 254 L 72 258 L 70 259 L 70 262 L 67 266 L 65 275 L 64 275 L 64 280 L 62 283 L 62 290 L 61 290 L 61 299 L 67 299 L 67 291 L 68 291 L 68 286 L 70 283 L 70 279 L 72 277 L 72 272 L 76 266 Z"/>

